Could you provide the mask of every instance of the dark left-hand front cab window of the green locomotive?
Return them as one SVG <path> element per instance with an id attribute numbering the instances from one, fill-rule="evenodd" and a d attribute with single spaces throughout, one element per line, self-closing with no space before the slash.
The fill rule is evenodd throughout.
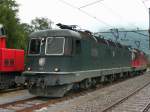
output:
<path id="1" fill-rule="evenodd" d="M 29 45 L 29 54 L 39 54 L 41 39 L 32 39 Z"/>

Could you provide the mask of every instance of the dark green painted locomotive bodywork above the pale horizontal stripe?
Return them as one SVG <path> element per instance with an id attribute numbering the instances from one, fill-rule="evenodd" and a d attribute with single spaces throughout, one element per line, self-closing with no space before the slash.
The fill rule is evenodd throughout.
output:
<path id="1" fill-rule="evenodd" d="M 63 31 L 63 33 L 62 33 Z M 56 34 L 55 34 L 55 33 Z M 46 56 L 45 47 L 41 47 L 41 54 L 38 56 L 27 56 L 27 68 L 31 67 L 32 71 L 54 72 L 59 68 L 60 72 L 75 72 L 96 69 L 108 69 L 119 67 L 130 67 L 131 53 L 122 46 L 111 46 L 104 43 L 96 42 L 93 38 L 70 30 L 44 31 L 31 34 L 31 38 L 46 38 L 51 36 L 65 36 L 66 39 L 72 39 L 73 47 L 71 55 Z M 61 33 L 59 33 L 61 32 Z M 44 35 L 45 34 L 45 35 Z M 57 38 L 57 37 L 56 37 Z M 81 41 L 81 52 L 76 53 L 75 40 Z M 39 65 L 39 59 L 45 58 L 45 65 Z M 32 62 L 32 63 L 31 63 Z"/>

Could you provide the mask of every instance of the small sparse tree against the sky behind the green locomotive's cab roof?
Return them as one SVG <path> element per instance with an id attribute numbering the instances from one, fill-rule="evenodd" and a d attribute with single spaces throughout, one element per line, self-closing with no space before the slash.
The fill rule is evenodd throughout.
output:
<path id="1" fill-rule="evenodd" d="M 45 30 L 45 29 L 52 29 L 53 22 L 49 20 L 48 18 L 35 18 L 31 21 L 31 25 L 34 29 L 34 31 L 38 30 Z"/>

